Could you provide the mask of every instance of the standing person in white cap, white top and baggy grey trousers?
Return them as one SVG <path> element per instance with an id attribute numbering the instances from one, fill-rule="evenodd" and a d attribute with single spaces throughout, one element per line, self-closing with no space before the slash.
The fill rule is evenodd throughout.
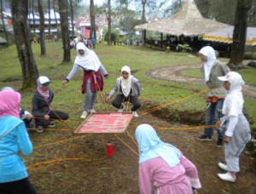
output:
<path id="1" fill-rule="evenodd" d="M 230 71 L 224 77 L 218 77 L 219 80 L 224 81 L 224 88 L 229 91 L 222 113 L 224 117 L 221 118 L 220 128 L 225 129 L 224 136 L 224 163 L 218 163 L 218 167 L 227 171 L 225 174 L 218 174 L 222 180 L 235 182 L 236 173 L 240 171 L 239 156 L 244 150 L 247 142 L 251 140 L 251 130 L 247 118 L 242 113 L 243 96 L 241 93 L 244 81 L 239 73 Z"/>

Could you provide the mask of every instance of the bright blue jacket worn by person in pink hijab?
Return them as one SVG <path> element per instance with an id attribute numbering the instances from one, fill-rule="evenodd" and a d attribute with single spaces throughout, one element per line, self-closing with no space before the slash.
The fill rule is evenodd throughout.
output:
<path id="1" fill-rule="evenodd" d="M 19 151 L 24 155 L 32 153 L 25 123 L 13 116 L 0 116 L 0 183 L 27 177 Z"/>

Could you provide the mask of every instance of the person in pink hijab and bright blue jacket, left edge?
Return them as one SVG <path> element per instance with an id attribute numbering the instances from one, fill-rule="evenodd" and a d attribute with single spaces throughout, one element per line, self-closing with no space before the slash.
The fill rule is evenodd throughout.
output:
<path id="1" fill-rule="evenodd" d="M 20 120 L 20 93 L 0 92 L 0 193 L 37 193 L 32 187 L 20 151 L 32 153 L 32 142 Z"/>

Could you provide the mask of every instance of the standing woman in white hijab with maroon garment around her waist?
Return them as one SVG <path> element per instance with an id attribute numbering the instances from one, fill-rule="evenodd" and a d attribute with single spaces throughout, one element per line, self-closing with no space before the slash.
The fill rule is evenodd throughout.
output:
<path id="1" fill-rule="evenodd" d="M 84 111 L 81 118 L 87 117 L 89 112 L 95 112 L 96 92 L 103 89 L 103 78 L 108 78 L 108 71 L 98 59 L 96 53 L 86 48 L 84 43 L 77 43 L 77 56 L 74 60 L 73 69 L 69 72 L 67 78 L 63 80 L 62 85 L 67 84 L 76 72 L 81 68 L 84 71 L 84 81 L 82 93 L 86 94 L 84 100 Z"/>

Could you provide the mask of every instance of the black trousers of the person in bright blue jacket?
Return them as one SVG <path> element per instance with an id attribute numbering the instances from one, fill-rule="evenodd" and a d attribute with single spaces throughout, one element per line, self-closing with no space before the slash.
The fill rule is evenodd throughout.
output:
<path id="1" fill-rule="evenodd" d="M 8 183 L 0 183 L 0 194 L 36 194 L 30 181 L 26 177 L 22 180 L 15 180 Z"/>

